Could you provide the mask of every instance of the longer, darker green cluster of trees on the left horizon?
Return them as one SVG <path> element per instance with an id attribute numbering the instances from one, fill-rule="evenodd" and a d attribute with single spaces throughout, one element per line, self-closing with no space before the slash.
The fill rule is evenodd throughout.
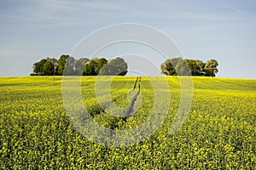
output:
<path id="1" fill-rule="evenodd" d="M 62 76 L 65 75 L 119 75 L 125 76 L 128 65 L 125 59 L 74 59 L 73 57 L 62 54 L 60 59 L 46 58 L 41 59 L 33 65 L 33 73 L 31 76 Z M 65 72 L 64 72 L 65 71 Z"/>

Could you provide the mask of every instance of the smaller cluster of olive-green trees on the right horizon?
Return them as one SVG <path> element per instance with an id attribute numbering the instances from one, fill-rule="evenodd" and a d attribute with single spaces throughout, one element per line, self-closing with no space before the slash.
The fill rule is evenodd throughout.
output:
<path id="1" fill-rule="evenodd" d="M 210 59 L 206 63 L 199 59 L 182 59 L 180 57 L 167 59 L 160 65 L 162 74 L 167 76 L 205 76 L 215 77 L 218 73 L 218 61 Z"/>

